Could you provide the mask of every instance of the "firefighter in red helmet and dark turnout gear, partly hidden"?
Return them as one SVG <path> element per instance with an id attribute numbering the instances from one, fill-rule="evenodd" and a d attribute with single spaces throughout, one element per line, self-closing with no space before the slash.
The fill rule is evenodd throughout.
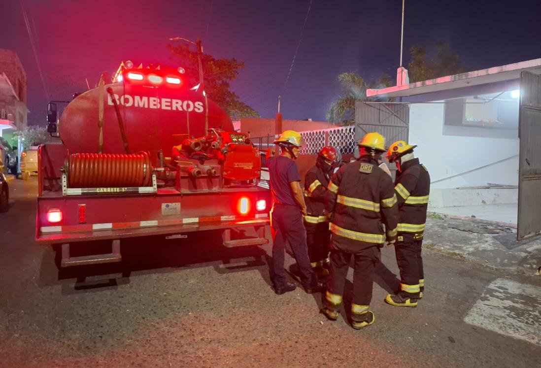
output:
<path id="1" fill-rule="evenodd" d="M 315 165 L 305 175 L 305 201 L 307 214 L 304 216 L 308 257 L 314 271 L 320 276 L 329 274 L 329 222 L 325 211 L 327 186 L 334 173 L 338 152 L 325 146 L 318 152 Z"/>

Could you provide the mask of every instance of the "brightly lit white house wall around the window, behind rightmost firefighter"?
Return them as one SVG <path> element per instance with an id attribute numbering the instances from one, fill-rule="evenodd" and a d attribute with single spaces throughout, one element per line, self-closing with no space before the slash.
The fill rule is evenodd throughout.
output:
<path id="1" fill-rule="evenodd" d="M 415 155 L 430 172 L 433 182 L 431 189 L 486 186 L 487 183 L 518 185 L 517 130 L 496 132 L 497 129 L 490 128 L 460 129 L 474 129 L 465 130 L 471 133 L 476 132 L 475 129 L 485 129 L 483 133 L 500 137 L 444 135 L 443 103 L 410 105 L 408 143 L 418 144 Z M 486 168 L 441 180 L 504 159 Z"/>

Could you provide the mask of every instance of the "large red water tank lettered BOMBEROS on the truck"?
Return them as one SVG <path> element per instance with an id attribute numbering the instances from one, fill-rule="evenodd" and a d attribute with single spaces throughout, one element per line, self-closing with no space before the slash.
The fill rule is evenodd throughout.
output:
<path id="1" fill-rule="evenodd" d="M 126 153 L 113 98 L 120 110 L 131 153 L 148 151 L 153 165 L 157 165 L 160 149 L 167 156 L 171 147 L 182 143 L 177 142 L 174 135 L 206 135 L 206 119 L 208 128 L 233 130 L 226 112 L 209 98 L 205 101 L 202 91 L 190 90 L 184 80 L 168 83 L 167 76 L 156 77 L 156 73 L 148 69 L 141 69 L 140 73 L 142 80 L 131 81 L 125 73 L 121 82 L 91 89 L 68 104 L 62 113 L 59 131 L 70 154 L 98 152 L 100 98 L 103 101 L 103 153 Z M 113 95 L 107 92 L 108 87 Z"/>

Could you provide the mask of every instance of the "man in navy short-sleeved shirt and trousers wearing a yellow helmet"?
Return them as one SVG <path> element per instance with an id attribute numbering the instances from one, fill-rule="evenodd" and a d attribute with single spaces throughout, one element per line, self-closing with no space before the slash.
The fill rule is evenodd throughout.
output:
<path id="1" fill-rule="evenodd" d="M 283 294 L 295 290 L 296 287 L 287 281 L 283 268 L 286 242 L 291 245 L 305 291 L 307 293 L 324 291 L 325 284 L 318 280 L 308 259 L 306 230 L 302 223 L 302 216 L 306 215 L 306 204 L 300 187 L 299 168 L 294 160 L 299 156 L 304 141 L 299 133 L 286 130 L 274 143 L 281 149 L 281 155 L 269 157 L 267 161 L 274 200 L 271 212 L 274 292 Z"/>

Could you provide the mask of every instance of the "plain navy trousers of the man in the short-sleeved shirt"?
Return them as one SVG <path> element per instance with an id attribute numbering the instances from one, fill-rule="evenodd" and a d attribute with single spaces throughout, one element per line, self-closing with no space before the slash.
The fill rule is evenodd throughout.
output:
<path id="1" fill-rule="evenodd" d="M 305 286 L 317 284 L 318 277 L 308 260 L 306 230 L 299 207 L 275 204 L 271 214 L 271 230 L 274 242 L 271 277 L 274 287 L 281 288 L 286 283 L 286 271 L 283 269 L 286 242 L 289 242 L 299 266 L 302 284 Z"/>

